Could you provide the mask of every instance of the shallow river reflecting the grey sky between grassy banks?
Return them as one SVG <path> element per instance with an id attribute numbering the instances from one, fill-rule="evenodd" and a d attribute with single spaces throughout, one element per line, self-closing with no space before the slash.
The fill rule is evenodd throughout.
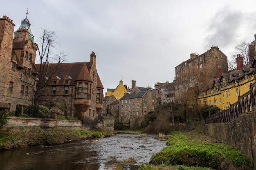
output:
<path id="1" fill-rule="evenodd" d="M 0 170 L 137 170 L 165 146 L 156 135 L 117 134 L 97 142 L 0 150 Z M 129 157 L 137 163 L 121 163 Z"/>

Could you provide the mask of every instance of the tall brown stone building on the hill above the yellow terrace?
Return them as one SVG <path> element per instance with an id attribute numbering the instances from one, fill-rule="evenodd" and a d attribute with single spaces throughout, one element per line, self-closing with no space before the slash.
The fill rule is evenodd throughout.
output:
<path id="1" fill-rule="evenodd" d="M 223 72 L 227 73 L 227 56 L 219 50 L 218 46 L 211 46 L 211 49 L 201 55 L 191 53 L 189 60 L 175 67 L 175 81 L 180 84 L 191 81 L 200 83 L 215 78 L 218 65 Z"/>

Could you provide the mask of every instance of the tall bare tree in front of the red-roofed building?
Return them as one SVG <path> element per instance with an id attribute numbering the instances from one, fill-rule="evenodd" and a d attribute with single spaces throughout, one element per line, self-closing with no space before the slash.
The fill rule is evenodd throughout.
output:
<path id="1" fill-rule="evenodd" d="M 67 60 L 67 55 L 64 51 L 56 52 L 56 33 L 54 31 L 48 31 L 43 29 L 43 35 L 39 38 L 37 58 L 39 60 L 38 76 L 35 78 L 35 104 L 37 104 L 40 97 L 42 88 L 44 88 L 56 73 L 58 66 Z M 50 65 L 55 63 L 54 65 Z"/>

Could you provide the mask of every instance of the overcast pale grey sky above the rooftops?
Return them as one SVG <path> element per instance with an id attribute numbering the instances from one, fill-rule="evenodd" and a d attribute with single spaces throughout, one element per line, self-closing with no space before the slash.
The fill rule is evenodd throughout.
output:
<path id="1" fill-rule="evenodd" d="M 9 0 L 0 16 L 16 31 L 27 7 L 34 42 L 45 28 L 56 32 L 67 62 L 90 61 L 95 52 L 104 92 L 121 79 L 130 87 L 172 82 L 191 53 L 213 45 L 229 57 L 256 33 L 256 0 Z"/>

